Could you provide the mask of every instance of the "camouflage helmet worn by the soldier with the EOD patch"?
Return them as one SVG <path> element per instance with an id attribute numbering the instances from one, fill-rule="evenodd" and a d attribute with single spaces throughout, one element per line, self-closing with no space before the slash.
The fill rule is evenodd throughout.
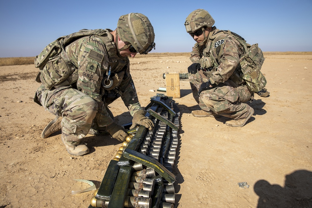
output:
<path id="1" fill-rule="evenodd" d="M 212 27 L 215 23 L 211 15 L 204 9 L 196 9 L 185 20 L 185 28 L 188 33 L 193 33 L 202 27 Z"/>

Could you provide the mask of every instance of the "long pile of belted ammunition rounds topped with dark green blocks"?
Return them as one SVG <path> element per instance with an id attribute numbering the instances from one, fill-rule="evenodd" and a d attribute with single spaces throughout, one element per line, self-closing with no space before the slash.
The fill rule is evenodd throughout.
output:
<path id="1" fill-rule="evenodd" d="M 90 206 L 105 208 L 174 207 L 180 111 L 172 97 L 157 94 L 146 107 L 155 128 L 130 129 L 107 167 Z M 175 167 L 176 168 L 176 167 Z"/>

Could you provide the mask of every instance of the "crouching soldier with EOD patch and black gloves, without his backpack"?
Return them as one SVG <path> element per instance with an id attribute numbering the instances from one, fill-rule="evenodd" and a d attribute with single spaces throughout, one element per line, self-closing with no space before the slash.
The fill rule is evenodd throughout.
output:
<path id="1" fill-rule="evenodd" d="M 244 51 L 243 45 L 231 34 L 218 30 L 214 19 L 203 9 L 191 12 L 185 21 L 186 31 L 197 42 L 188 67 L 193 97 L 201 110 L 196 117 L 231 118 L 226 125 L 242 127 L 254 113 L 245 102 L 253 93 L 245 83 L 237 84 L 234 72 Z"/>

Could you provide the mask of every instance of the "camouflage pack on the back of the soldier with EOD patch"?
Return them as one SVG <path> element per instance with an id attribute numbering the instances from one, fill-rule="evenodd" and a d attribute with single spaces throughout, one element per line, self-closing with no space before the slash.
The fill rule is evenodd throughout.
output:
<path id="1" fill-rule="evenodd" d="M 246 54 L 240 60 L 243 80 L 246 81 L 248 89 L 252 92 L 258 92 L 266 86 L 266 78 L 260 69 L 264 62 L 263 53 L 258 44 L 248 48 Z"/>

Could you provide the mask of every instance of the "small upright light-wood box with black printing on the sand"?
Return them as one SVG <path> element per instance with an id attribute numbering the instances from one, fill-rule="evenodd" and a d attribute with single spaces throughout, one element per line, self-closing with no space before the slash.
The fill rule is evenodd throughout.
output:
<path id="1" fill-rule="evenodd" d="M 180 78 L 179 73 L 166 74 L 167 96 L 180 98 Z"/>

